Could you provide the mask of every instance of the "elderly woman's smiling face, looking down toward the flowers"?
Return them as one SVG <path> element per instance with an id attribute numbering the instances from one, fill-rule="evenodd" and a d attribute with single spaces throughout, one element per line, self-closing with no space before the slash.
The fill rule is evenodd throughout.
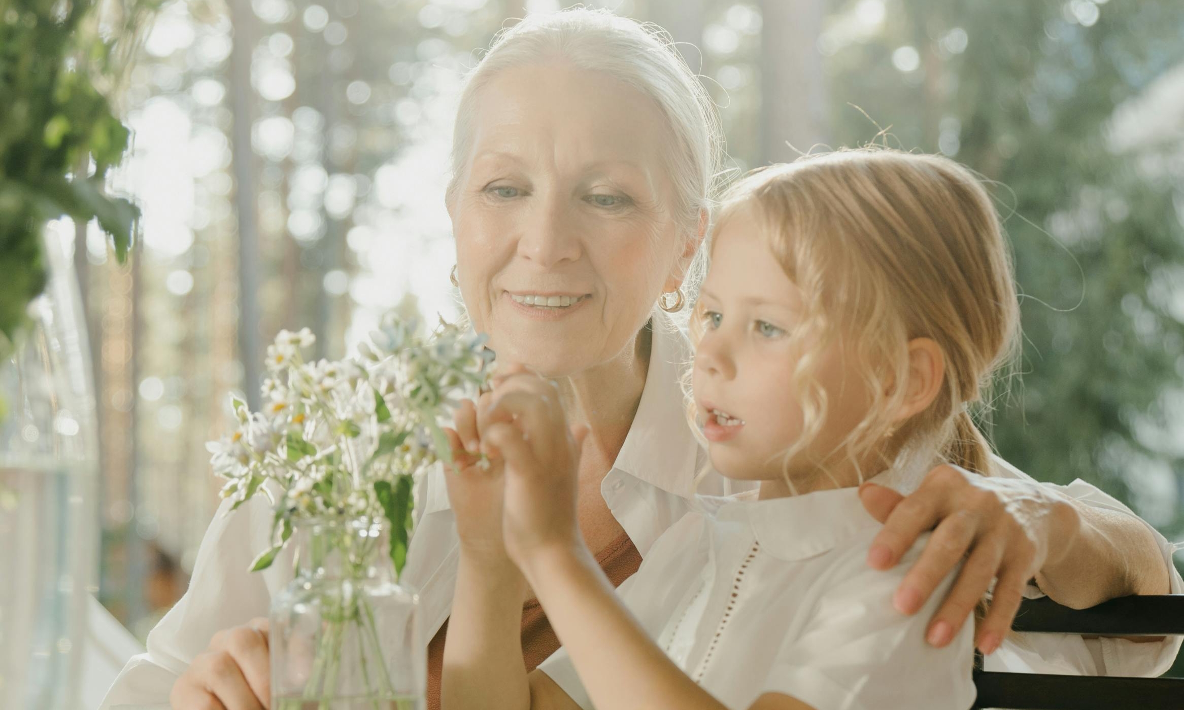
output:
<path id="1" fill-rule="evenodd" d="M 475 329 L 547 376 L 623 355 L 687 251 L 658 106 L 559 64 L 502 71 L 472 110 L 449 214 Z"/>

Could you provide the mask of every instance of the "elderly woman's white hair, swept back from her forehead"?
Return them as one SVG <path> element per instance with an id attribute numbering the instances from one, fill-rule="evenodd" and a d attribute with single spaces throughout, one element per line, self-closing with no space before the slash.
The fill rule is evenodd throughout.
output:
<path id="1" fill-rule="evenodd" d="M 472 104 L 481 88 L 506 69 L 555 58 L 577 69 L 603 72 L 657 103 L 673 143 L 665 151 L 675 193 L 671 209 L 683 238 L 694 239 L 701 215 L 712 213 L 721 175 L 723 141 L 715 104 L 668 32 L 604 9 L 575 7 L 533 14 L 497 34 L 461 93 L 449 200 L 455 196 L 472 150 L 472 120 L 478 115 Z M 703 254 L 700 248 L 688 270 L 688 301 L 704 271 Z"/>

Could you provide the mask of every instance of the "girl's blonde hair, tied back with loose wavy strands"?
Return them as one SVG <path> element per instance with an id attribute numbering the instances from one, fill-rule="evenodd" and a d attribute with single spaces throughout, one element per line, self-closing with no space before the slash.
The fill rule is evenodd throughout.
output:
<path id="1" fill-rule="evenodd" d="M 825 395 L 812 373 L 818 353 L 845 334 L 874 400 L 838 450 L 857 466 L 886 445 L 888 464 L 906 454 L 927 458 L 919 463 L 941 457 L 987 475 L 990 446 L 971 407 L 1012 360 L 1019 308 L 1011 254 L 979 180 L 938 155 L 848 149 L 753 170 L 725 195 L 719 224 L 741 209 L 764 222 L 776 258 L 803 292 L 805 317 L 793 337 L 822 343 L 794 363 L 805 427 L 785 463 L 806 450 L 825 420 Z M 696 305 L 696 343 L 700 314 Z M 926 411 L 894 431 L 890 413 L 905 387 L 890 383 L 907 381 L 908 342 L 918 337 L 940 347 L 944 382 Z"/>

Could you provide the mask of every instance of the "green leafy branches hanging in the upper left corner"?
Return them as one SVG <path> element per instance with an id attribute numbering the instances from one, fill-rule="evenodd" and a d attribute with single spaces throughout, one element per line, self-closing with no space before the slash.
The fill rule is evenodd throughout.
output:
<path id="1" fill-rule="evenodd" d="M 8 342 L 45 286 L 46 221 L 97 219 L 121 260 L 131 246 L 137 208 L 104 194 L 129 138 L 109 95 L 159 4 L 0 0 L 0 334 Z"/>

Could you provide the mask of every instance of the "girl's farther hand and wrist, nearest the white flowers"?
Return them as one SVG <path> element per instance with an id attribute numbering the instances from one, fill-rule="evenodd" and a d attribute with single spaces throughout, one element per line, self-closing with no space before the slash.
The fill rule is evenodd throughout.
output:
<path id="1" fill-rule="evenodd" d="M 462 402 L 456 430 L 444 430 L 452 446 L 452 464 L 445 467 L 444 479 L 462 554 L 480 564 L 509 566 L 502 543 L 502 464 L 481 454 L 477 431 L 477 407 L 488 406 L 490 396 L 482 394 L 477 405 Z"/>

